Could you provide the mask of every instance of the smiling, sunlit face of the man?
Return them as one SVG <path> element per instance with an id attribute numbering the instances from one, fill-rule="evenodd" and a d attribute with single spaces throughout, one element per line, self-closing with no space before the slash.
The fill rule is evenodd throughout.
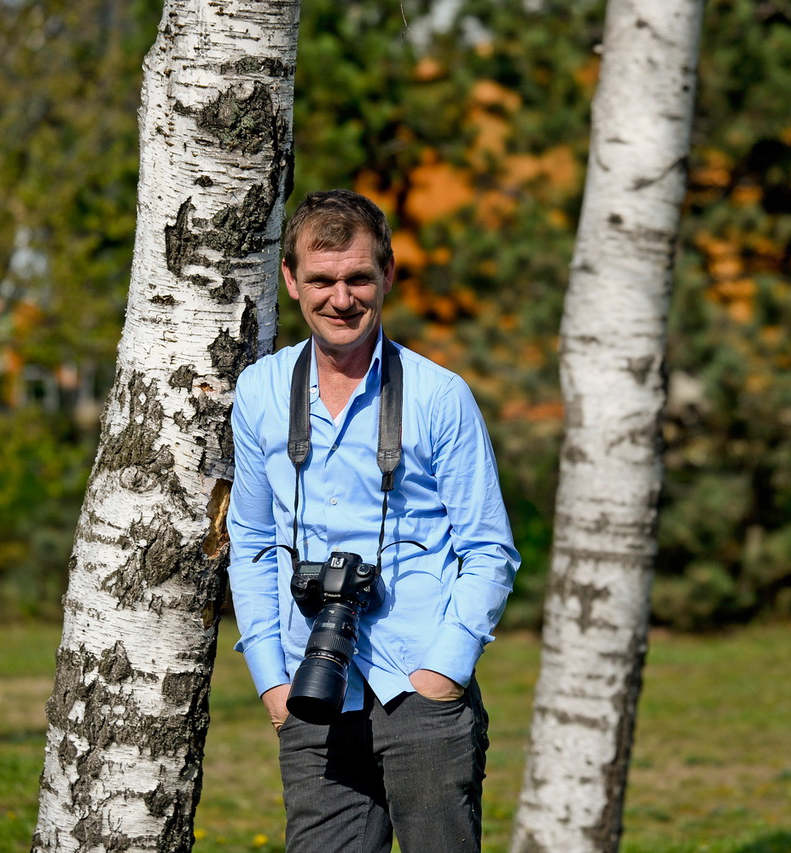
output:
<path id="1" fill-rule="evenodd" d="M 292 275 L 283 263 L 283 277 L 317 346 L 330 355 L 371 346 L 384 295 L 393 284 L 392 259 L 380 269 L 374 239 L 367 231 L 358 231 L 343 249 L 309 249 L 309 236 L 300 235 L 296 271 Z"/>

